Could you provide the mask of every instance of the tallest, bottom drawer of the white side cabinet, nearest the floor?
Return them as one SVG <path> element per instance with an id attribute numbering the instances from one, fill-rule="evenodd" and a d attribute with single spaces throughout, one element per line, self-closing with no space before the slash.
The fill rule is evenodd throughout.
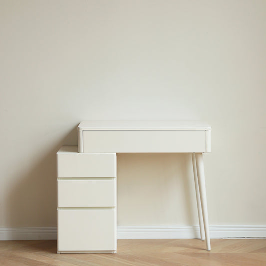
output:
<path id="1" fill-rule="evenodd" d="M 116 210 L 58 210 L 58 252 L 115 251 Z"/>

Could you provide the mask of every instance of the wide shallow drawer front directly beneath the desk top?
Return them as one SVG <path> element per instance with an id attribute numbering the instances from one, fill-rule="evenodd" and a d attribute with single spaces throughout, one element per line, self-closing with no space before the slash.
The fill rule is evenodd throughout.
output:
<path id="1" fill-rule="evenodd" d="M 206 152 L 206 131 L 83 130 L 83 152 Z"/>

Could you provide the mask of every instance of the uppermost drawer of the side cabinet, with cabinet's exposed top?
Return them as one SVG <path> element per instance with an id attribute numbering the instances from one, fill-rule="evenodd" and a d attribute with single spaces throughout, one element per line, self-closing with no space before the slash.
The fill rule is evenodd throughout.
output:
<path id="1" fill-rule="evenodd" d="M 77 146 L 62 146 L 57 152 L 57 177 L 116 177 L 116 154 L 78 153 Z"/>

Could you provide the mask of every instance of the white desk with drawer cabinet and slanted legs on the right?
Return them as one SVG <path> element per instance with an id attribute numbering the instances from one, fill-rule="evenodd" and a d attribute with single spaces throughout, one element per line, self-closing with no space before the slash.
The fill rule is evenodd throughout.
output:
<path id="1" fill-rule="evenodd" d="M 76 147 L 57 153 L 57 252 L 116 252 L 116 153 L 192 153 L 201 239 L 211 250 L 200 121 L 84 121 Z"/>

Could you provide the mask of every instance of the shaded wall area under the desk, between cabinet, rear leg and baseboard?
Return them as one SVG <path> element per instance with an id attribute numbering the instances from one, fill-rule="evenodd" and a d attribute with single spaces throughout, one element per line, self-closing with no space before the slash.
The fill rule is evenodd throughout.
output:
<path id="1" fill-rule="evenodd" d="M 118 225 L 198 224 L 190 153 L 120 153 L 117 165 Z"/>

